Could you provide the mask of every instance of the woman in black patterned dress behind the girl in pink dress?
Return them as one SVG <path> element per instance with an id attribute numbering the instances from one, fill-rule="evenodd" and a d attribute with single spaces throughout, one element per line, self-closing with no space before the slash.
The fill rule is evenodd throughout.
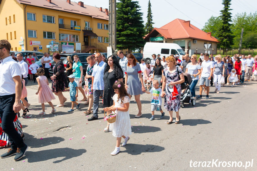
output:
<path id="1" fill-rule="evenodd" d="M 58 104 L 56 107 L 64 106 L 64 102 L 67 100 L 67 98 L 65 98 L 62 93 L 66 88 L 67 77 L 64 72 L 65 68 L 63 62 L 60 60 L 60 58 L 60 54 L 53 54 L 53 60 L 56 62 L 56 64 L 54 66 L 54 75 L 51 76 L 52 92 L 58 96 L 60 101 L 60 104 Z"/>

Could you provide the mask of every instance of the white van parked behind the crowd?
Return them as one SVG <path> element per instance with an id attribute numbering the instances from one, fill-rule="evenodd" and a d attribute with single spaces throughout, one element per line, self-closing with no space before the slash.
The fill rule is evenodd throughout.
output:
<path id="1" fill-rule="evenodd" d="M 158 54 L 161 55 L 161 57 L 170 56 L 173 54 L 179 54 L 179 59 L 182 60 L 182 55 L 185 55 L 185 52 L 182 50 L 182 48 L 176 44 L 176 43 L 153 43 L 153 42 L 147 42 L 144 45 L 143 55 L 144 60 L 146 62 L 151 62 L 152 60 L 152 54 L 156 54 L 156 57 Z"/>

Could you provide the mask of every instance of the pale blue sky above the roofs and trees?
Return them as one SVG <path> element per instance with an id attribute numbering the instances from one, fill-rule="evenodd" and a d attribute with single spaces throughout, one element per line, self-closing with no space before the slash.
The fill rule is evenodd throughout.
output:
<path id="1" fill-rule="evenodd" d="M 74 1 L 74 0 L 71 0 Z M 109 0 L 79 0 L 84 4 L 109 8 Z M 137 0 L 141 6 L 141 12 L 144 13 L 143 20 L 147 21 L 147 8 L 148 0 Z M 77 2 L 77 1 L 76 1 Z M 117 0 L 118 2 L 118 0 Z M 190 23 L 194 26 L 202 29 L 205 22 L 213 15 L 219 16 L 220 10 L 222 10 L 222 0 L 150 0 L 152 5 L 153 27 L 160 28 L 161 26 L 173 21 L 176 18 L 182 20 L 190 20 Z M 257 0 L 232 0 L 230 12 L 232 16 L 237 13 L 250 12 L 254 13 L 257 7 Z"/>

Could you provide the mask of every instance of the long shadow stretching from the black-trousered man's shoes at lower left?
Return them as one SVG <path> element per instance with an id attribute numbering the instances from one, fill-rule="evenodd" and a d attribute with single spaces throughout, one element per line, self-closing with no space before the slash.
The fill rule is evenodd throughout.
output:
<path id="1" fill-rule="evenodd" d="M 41 151 L 28 151 L 26 152 L 26 156 L 23 159 L 28 159 L 29 163 L 46 161 L 49 159 L 57 159 L 59 157 L 63 157 L 61 160 L 53 161 L 53 163 L 60 163 L 62 161 L 71 159 L 73 157 L 81 156 L 87 150 L 85 149 L 72 149 L 72 148 L 55 148 L 49 150 L 41 150 Z M 43 167 L 42 167 L 43 168 Z M 39 169 L 40 170 L 40 169 Z"/>

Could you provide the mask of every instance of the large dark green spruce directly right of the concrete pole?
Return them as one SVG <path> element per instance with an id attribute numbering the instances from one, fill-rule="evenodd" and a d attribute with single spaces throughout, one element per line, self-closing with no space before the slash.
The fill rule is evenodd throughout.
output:
<path id="1" fill-rule="evenodd" d="M 138 1 L 117 2 L 117 48 L 135 50 L 144 46 L 145 35 L 143 13 Z"/>

